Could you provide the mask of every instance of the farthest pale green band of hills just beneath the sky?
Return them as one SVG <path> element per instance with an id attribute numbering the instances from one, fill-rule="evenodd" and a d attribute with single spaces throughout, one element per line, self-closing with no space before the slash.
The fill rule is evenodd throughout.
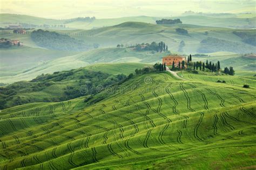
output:
<path id="1" fill-rule="evenodd" d="M 177 19 L 179 18 L 183 24 L 193 24 L 202 26 L 214 26 L 214 27 L 229 27 L 229 28 L 240 28 L 248 29 L 255 28 L 255 15 L 242 16 L 242 15 L 224 15 L 223 13 L 215 13 L 208 15 L 181 15 L 175 17 L 149 17 L 149 16 L 134 16 L 134 17 L 121 17 L 121 18 L 106 18 L 106 19 L 95 19 L 92 22 L 71 22 L 66 24 L 66 20 L 57 19 L 46 19 L 40 17 L 32 17 L 26 15 L 15 15 L 15 14 L 0 14 L 0 26 L 8 25 L 8 23 L 30 23 L 36 25 L 59 25 L 65 24 L 66 29 L 97 29 L 99 27 L 112 26 L 121 24 L 124 22 L 144 22 L 156 24 L 156 20 L 159 19 Z M 70 20 L 70 19 L 69 19 Z"/>

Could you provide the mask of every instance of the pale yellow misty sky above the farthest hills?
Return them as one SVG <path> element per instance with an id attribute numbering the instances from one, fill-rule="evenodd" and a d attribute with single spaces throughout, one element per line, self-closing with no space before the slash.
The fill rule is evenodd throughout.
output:
<path id="1" fill-rule="evenodd" d="M 17 13 L 55 19 L 85 16 L 118 18 L 142 15 L 170 17 L 189 10 L 211 13 L 255 12 L 255 4 L 256 0 L 1 0 L 0 13 Z"/>

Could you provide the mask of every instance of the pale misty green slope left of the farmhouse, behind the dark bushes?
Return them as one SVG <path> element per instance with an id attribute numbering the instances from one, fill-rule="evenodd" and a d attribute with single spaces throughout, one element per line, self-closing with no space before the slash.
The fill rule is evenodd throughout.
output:
<path id="1" fill-rule="evenodd" d="M 17 51 L 7 51 L 5 56 L 8 58 L 12 54 L 16 54 Z M 34 53 L 35 49 L 31 48 L 28 52 L 24 53 L 25 55 L 28 55 L 28 53 L 31 53 L 35 56 L 37 56 L 37 53 Z M 52 51 L 49 51 L 49 53 Z M 49 54 L 45 53 L 45 54 Z M 42 53 L 43 55 L 44 53 Z M 61 54 L 61 53 L 60 53 Z M 62 54 L 68 55 L 69 53 L 67 52 L 62 52 Z M 107 62 L 113 62 L 113 63 L 120 63 L 120 62 L 143 62 L 143 63 L 151 63 L 151 62 L 156 62 L 160 61 L 162 56 L 167 55 L 168 53 L 151 53 L 151 52 L 136 52 L 133 51 L 132 49 L 125 49 L 125 48 L 102 48 L 102 49 L 95 49 L 92 51 L 87 51 L 87 52 L 82 52 L 78 53 L 75 55 L 69 55 L 69 56 L 64 56 L 62 58 L 50 60 L 47 62 L 43 62 L 40 65 L 30 65 L 30 67 L 26 68 L 25 70 L 20 69 L 19 74 L 10 76 L 11 74 L 6 75 L 6 73 L 13 72 L 13 70 L 5 67 L 4 70 L 2 70 L 1 74 L 3 75 L 1 77 L 0 82 L 2 83 L 12 83 L 12 82 L 17 82 L 17 81 L 22 81 L 22 80 L 32 80 L 36 76 L 41 75 L 41 74 L 46 74 L 46 73 L 53 73 L 57 71 L 62 71 L 62 70 L 69 70 L 69 69 L 75 69 L 79 67 L 84 67 L 87 65 L 92 65 L 95 63 L 107 63 Z M 17 55 L 17 57 L 20 56 Z M 52 55 L 49 55 L 49 57 Z M 57 56 L 57 55 L 56 55 Z M 38 55 L 38 58 L 40 58 L 41 55 Z M 6 62 L 12 62 L 12 60 L 8 60 Z M 24 60 L 24 62 L 29 61 Z M 135 67 L 143 66 L 143 63 L 133 63 L 131 64 L 131 70 L 133 71 Z M 122 65 L 122 64 L 121 64 Z M 7 65 L 6 65 L 7 66 Z M 103 69 L 109 69 L 110 66 L 112 69 L 117 69 L 118 65 L 104 65 Z M 123 65 L 124 66 L 124 65 Z M 16 68 L 18 65 L 14 65 Z M 93 66 L 95 67 L 95 66 Z M 107 67 L 107 68 L 106 68 Z M 134 68 L 134 69 L 133 69 Z M 118 68 L 121 70 L 124 70 L 125 73 L 129 72 L 129 69 L 127 66 L 124 66 L 122 68 Z M 15 72 L 17 73 L 17 72 Z M 123 72 L 121 72 L 123 73 Z M 5 76 L 4 76 L 5 75 Z"/>

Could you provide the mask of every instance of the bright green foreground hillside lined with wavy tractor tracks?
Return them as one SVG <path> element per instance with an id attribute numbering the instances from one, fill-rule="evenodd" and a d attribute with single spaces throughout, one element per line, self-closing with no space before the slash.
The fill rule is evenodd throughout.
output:
<path id="1" fill-rule="evenodd" d="M 256 88 L 196 76 L 145 74 L 87 102 L 2 110 L 1 168 L 253 168 Z"/>

